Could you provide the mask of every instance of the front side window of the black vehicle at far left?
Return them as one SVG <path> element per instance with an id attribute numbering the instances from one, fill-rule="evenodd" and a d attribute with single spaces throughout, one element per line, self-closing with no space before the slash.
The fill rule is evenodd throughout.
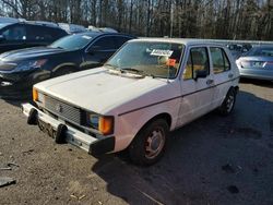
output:
<path id="1" fill-rule="evenodd" d="M 23 25 L 10 26 L 3 31 L 2 35 L 7 40 L 25 40 L 26 28 Z"/>

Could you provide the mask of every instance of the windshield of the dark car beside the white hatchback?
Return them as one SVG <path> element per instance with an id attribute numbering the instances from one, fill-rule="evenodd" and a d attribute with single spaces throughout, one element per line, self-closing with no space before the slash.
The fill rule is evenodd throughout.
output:
<path id="1" fill-rule="evenodd" d="M 66 36 L 55 43 L 52 43 L 49 47 L 51 48 L 63 48 L 67 50 L 76 50 L 84 48 L 90 44 L 92 37 L 88 35 L 70 35 Z"/>

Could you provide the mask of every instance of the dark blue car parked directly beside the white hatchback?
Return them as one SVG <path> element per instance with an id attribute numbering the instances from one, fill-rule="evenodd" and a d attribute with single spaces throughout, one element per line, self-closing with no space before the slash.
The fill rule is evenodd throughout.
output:
<path id="1" fill-rule="evenodd" d="M 87 32 L 66 36 L 48 47 L 4 52 L 0 55 L 0 96 L 22 98 L 29 95 L 35 83 L 99 67 L 132 38 L 126 34 Z"/>

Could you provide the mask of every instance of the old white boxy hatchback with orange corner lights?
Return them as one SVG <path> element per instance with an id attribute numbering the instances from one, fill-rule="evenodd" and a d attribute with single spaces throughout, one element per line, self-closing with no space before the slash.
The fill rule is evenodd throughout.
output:
<path id="1" fill-rule="evenodd" d="M 128 41 L 107 63 L 38 83 L 28 124 L 93 155 L 128 148 L 152 165 L 170 131 L 214 110 L 232 112 L 239 71 L 229 51 L 197 39 Z"/>

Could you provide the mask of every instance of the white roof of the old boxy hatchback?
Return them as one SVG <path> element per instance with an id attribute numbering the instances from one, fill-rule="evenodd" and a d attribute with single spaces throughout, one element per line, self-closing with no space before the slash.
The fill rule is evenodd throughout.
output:
<path id="1" fill-rule="evenodd" d="M 207 46 L 219 46 L 225 47 L 223 44 L 214 43 L 210 39 L 200 39 L 200 38 L 168 38 L 168 37 L 141 37 L 138 39 L 133 39 L 130 41 L 161 41 L 161 43 L 173 43 L 173 44 L 183 44 L 186 46 L 194 46 L 194 45 L 207 45 Z"/>

